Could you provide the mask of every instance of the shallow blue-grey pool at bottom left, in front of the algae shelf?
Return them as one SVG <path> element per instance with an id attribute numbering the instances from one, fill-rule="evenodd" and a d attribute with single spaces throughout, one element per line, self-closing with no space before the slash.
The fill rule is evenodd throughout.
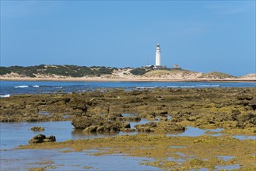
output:
<path id="1" fill-rule="evenodd" d="M 63 149 L 3 151 L 1 152 L 1 170 L 27 170 L 42 167 L 51 170 L 84 170 L 88 166 L 93 170 L 160 170 L 153 166 L 140 165 L 142 161 L 153 161 L 145 157 L 124 157 L 120 154 L 92 155 L 96 150 L 68 153 L 62 151 Z"/>

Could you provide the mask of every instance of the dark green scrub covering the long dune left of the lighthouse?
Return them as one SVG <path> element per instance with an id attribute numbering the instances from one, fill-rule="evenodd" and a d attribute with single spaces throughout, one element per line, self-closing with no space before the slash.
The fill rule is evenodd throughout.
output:
<path id="1" fill-rule="evenodd" d="M 82 77 L 86 75 L 110 75 L 117 68 L 110 67 L 86 67 L 77 65 L 36 65 L 29 67 L 11 66 L 0 67 L 0 75 L 17 73 L 19 75 L 36 77 L 36 75 L 61 75 L 70 77 Z"/>

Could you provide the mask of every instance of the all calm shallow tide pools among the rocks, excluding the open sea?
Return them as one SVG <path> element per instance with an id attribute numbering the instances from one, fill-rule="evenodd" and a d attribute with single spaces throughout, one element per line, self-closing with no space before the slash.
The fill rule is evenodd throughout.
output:
<path id="1" fill-rule="evenodd" d="M 146 124 L 149 120 L 141 120 L 140 122 L 133 122 L 132 124 Z M 45 127 L 43 132 L 34 132 L 30 128 L 33 126 Z M 140 162 L 154 161 L 150 158 L 142 157 L 129 157 L 124 154 L 91 155 L 95 150 L 85 150 L 83 152 L 68 152 L 63 153 L 65 149 L 53 149 L 53 150 L 13 150 L 13 148 L 19 145 L 26 145 L 30 138 L 36 134 L 45 134 L 47 136 L 53 134 L 56 136 L 57 141 L 66 141 L 70 139 L 88 139 L 99 137 L 110 137 L 117 134 L 138 134 L 136 132 L 125 133 L 111 133 L 111 134 L 85 134 L 82 131 L 75 131 L 70 121 L 60 122 L 41 122 L 41 123 L 1 123 L 0 125 L 0 145 L 1 145 L 1 170 L 24 170 L 33 167 L 49 166 L 49 164 L 42 164 L 38 162 L 52 162 L 50 166 L 54 166 L 53 169 L 48 170 L 81 170 L 86 166 L 91 166 L 91 170 L 95 169 L 110 169 L 110 170 L 159 170 L 152 166 L 140 165 Z M 205 134 L 205 131 L 214 131 L 216 134 L 209 134 L 212 136 L 219 136 L 218 132 L 221 129 L 216 130 L 202 130 L 196 127 L 187 127 L 187 131 L 180 134 L 167 134 L 167 136 L 201 136 Z M 141 134 L 141 133 L 139 133 Z M 234 136 L 235 137 L 235 136 Z M 250 138 L 252 136 L 240 137 L 241 139 Z M 178 162 L 175 160 L 175 162 Z M 180 161 L 184 162 L 184 161 Z M 118 163 L 118 165 L 116 164 Z M 219 166 L 218 169 L 222 169 Z M 233 166 L 229 166 L 225 169 L 237 169 Z M 239 168 L 238 168 L 239 169 Z"/>

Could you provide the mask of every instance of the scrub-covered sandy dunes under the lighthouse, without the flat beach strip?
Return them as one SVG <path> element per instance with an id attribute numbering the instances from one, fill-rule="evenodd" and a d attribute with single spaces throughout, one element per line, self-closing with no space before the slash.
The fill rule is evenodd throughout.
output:
<path id="1" fill-rule="evenodd" d="M 115 71 L 115 72 L 114 72 Z M 16 74 L 18 77 L 36 78 L 41 76 L 61 76 L 79 78 L 84 76 L 101 76 L 101 75 L 118 75 L 124 72 L 124 75 L 131 73 L 132 75 L 143 77 L 156 78 L 171 78 L 171 79 L 237 79 L 236 76 L 222 72 L 193 72 L 182 68 L 160 68 L 155 69 L 153 65 L 140 68 L 113 68 L 104 66 L 78 66 L 78 65 L 35 65 L 35 66 L 10 66 L 0 67 L 0 76 L 8 74 Z M 12 75 L 13 76 L 13 75 Z M 244 75 L 243 77 L 255 78 L 254 74 Z"/>

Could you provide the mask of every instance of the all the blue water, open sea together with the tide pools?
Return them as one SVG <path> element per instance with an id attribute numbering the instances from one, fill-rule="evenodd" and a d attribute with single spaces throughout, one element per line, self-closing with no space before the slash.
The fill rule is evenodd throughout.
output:
<path id="1" fill-rule="evenodd" d="M 50 82 L 50 81 L 0 81 L 0 94 L 2 98 L 19 94 L 44 94 L 44 93 L 72 93 L 96 91 L 109 88 L 151 89 L 151 88 L 204 88 L 217 89 L 219 87 L 255 87 L 255 82 Z M 131 113 L 122 113 L 129 115 Z M 169 118 L 171 119 L 171 117 Z M 149 120 L 142 119 L 135 124 L 146 124 Z M 33 126 L 44 127 L 44 132 L 33 132 Z M 210 136 L 223 135 L 216 130 L 202 130 L 197 127 L 187 127 L 181 134 L 167 134 L 167 136 L 201 136 L 207 131 L 215 132 Z M 68 152 L 65 149 L 15 149 L 19 145 L 27 145 L 30 138 L 37 134 L 55 135 L 57 141 L 70 139 L 88 139 L 111 137 L 124 134 L 140 134 L 136 132 L 118 132 L 112 134 L 84 134 L 75 130 L 71 121 L 59 122 L 15 122 L 0 123 L 0 170 L 161 170 L 154 166 L 142 165 L 142 162 L 154 162 L 156 159 L 145 157 L 132 157 L 125 154 L 110 154 L 95 156 L 93 153 L 101 152 L 97 149 L 83 150 L 82 152 Z M 233 135 L 240 140 L 255 139 L 254 136 Z M 232 157 L 232 156 L 231 156 Z M 174 162 L 182 160 L 171 159 Z M 206 169 L 206 168 L 205 168 Z M 216 169 L 240 169 L 237 164 L 231 166 L 216 166 Z M 202 169 L 204 170 L 204 169 Z M 207 169 L 206 169 L 207 170 Z"/>

